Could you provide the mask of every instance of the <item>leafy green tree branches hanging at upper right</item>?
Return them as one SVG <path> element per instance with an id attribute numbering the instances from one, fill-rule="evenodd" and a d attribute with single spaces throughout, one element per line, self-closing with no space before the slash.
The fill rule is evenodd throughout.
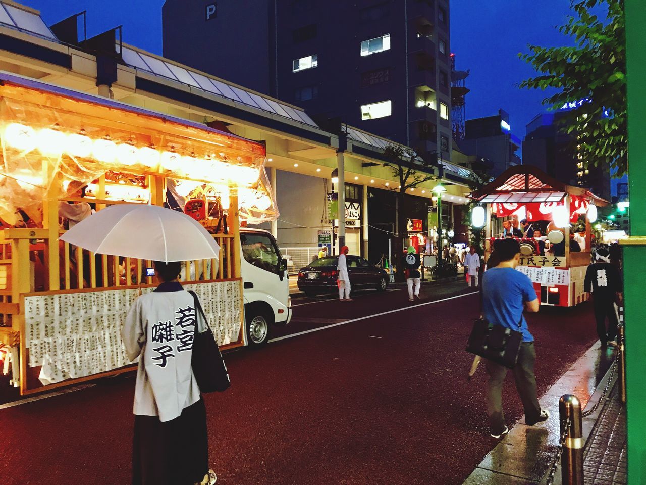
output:
<path id="1" fill-rule="evenodd" d="M 529 45 L 530 52 L 519 57 L 539 76 L 520 87 L 556 89 L 543 103 L 572 108 L 563 111 L 561 122 L 572 134 L 573 153 L 581 155 L 584 167 L 616 169 L 621 177 L 628 169 L 623 0 L 571 0 L 571 5 L 574 15 L 558 30 L 574 46 Z"/>

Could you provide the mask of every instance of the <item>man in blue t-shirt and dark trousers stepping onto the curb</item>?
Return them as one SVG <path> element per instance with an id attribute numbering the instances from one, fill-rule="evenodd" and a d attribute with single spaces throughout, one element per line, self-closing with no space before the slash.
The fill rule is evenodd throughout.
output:
<path id="1" fill-rule="evenodd" d="M 527 328 L 523 310 L 537 312 L 540 306 L 532 281 L 516 270 L 520 257 L 520 244 L 516 239 L 496 241 L 495 253 L 500 261 L 483 276 L 483 316 L 494 325 L 502 325 L 523 334 L 523 341 L 514 367 L 516 389 L 525 407 L 528 426 L 547 420 L 550 415 L 541 409 L 536 395 L 534 376 L 534 337 Z M 485 359 L 489 381 L 486 389 L 486 407 L 489 415 L 490 434 L 500 438 L 509 430 L 503 413 L 503 383 L 507 368 Z"/>

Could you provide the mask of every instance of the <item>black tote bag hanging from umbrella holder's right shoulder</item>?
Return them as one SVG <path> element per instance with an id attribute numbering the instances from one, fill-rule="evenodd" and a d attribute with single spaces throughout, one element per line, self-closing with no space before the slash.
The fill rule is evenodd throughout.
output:
<path id="1" fill-rule="evenodd" d="M 208 327 L 200 299 L 195 292 L 189 293 L 193 295 L 195 304 L 195 336 L 193 338 L 193 355 L 191 356 L 193 375 L 202 393 L 215 391 L 222 393 L 231 387 L 229 371 L 227 371 L 227 365 L 224 363 L 222 352 L 218 348 L 213 332 Z M 198 311 L 202 314 L 204 321 L 207 321 L 206 332 L 198 332 Z"/>

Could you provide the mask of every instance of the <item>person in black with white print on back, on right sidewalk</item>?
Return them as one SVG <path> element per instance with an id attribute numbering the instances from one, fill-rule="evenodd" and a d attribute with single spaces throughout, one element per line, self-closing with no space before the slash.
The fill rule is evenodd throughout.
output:
<path id="1" fill-rule="evenodd" d="M 615 264 L 610 263 L 610 250 L 605 246 L 597 248 L 596 263 L 590 264 L 585 272 L 583 291 L 592 291 L 594 319 L 597 335 L 604 347 L 617 345 L 617 312 L 615 302 L 621 301 L 621 276 Z M 605 320 L 608 319 L 606 328 Z"/>

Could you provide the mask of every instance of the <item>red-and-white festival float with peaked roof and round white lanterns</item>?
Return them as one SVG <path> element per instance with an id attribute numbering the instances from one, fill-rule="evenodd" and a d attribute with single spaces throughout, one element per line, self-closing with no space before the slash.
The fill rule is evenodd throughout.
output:
<path id="1" fill-rule="evenodd" d="M 521 244 L 517 270 L 530 277 L 541 304 L 572 307 L 589 298 L 583 279 L 591 262 L 590 224 L 596 220 L 596 208 L 607 205 L 607 200 L 529 165 L 510 167 L 470 197 L 479 202 L 472 225 L 486 230 L 485 259 L 495 239 L 512 232 Z M 519 227 L 523 220 L 526 226 Z M 503 221 L 510 222 L 505 224 L 508 229 Z M 582 231 L 575 244 L 570 241 L 577 225 Z M 528 237 L 539 230 L 541 237 Z"/>

